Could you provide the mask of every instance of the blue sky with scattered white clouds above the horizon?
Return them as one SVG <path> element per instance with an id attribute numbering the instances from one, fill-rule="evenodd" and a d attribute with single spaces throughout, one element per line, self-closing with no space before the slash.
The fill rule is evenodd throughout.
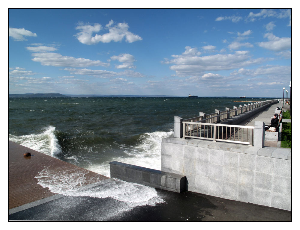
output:
<path id="1" fill-rule="evenodd" d="M 278 96 L 290 9 L 10 9 L 9 93 Z"/>

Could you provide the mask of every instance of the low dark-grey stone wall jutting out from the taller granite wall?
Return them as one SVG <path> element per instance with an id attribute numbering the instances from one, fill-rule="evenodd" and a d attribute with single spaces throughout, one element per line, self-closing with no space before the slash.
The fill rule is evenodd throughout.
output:
<path id="1" fill-rule="evenodd" d="M 186 176 L 112 161 L 110 177 L 172 192 L 186 191 Z"/>

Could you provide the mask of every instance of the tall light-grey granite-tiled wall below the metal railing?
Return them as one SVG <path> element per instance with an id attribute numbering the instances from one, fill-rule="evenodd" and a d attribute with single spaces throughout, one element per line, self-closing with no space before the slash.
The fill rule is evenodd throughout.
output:
<path id="1" fill-rule="evenodd" d="M 165 138 L 161 170 L 192 192 L 291 210 L 291 149 Z"/>

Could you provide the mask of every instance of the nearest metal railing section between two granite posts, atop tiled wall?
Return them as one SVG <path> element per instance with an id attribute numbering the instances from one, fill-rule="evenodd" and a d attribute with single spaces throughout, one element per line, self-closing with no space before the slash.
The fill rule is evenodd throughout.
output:
<path id="1" fill-rule="evenodd" d="M 224 141 L 253 146 L 254 126 L 224 125 L 183 121 L 182 137 Z"/>

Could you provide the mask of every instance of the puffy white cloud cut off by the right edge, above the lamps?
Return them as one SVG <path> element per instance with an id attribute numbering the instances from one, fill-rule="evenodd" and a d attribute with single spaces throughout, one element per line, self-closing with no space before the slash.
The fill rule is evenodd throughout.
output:
<path id="1" fill-rule="evenodd" d="M 292 39 L 290 37 L 276 37 L 272 33 L 266 33 L 264 38 L 268 38 L 268 42 L 259 42 L 258 46 L 272 50 L 272 51 L 284 51 L 286 49 L 291 49 Z"/>

